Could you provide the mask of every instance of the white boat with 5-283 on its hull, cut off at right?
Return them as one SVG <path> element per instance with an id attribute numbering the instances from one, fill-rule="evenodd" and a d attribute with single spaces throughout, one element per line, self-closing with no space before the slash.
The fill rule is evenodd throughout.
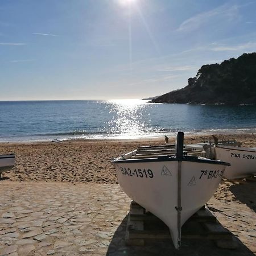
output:
<path id="1" fill-rule="evenodd" d="M 217 144 L 214 147 L 216 158 L 229 162 L 224 172 L 228 180 L 251 176 L 256 172 L 256 149 L 247 147 L 225 146 Z"/>

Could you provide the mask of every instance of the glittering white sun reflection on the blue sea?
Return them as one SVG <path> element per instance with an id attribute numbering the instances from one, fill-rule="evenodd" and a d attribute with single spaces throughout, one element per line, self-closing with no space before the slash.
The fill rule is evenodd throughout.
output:
<path id="1" fill-rule="evenodd" d="M 109 112 L 113 118 L 108 121 L 109 133 L 122 135 L 142 135 L 150 132 L 150 119 L 145 120 L 147 101 L 110 100 Z"/>

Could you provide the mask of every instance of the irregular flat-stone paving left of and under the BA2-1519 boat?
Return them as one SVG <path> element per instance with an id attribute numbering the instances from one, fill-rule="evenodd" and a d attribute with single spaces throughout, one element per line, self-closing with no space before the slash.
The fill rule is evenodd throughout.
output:
<path id="1" fill-rule="evenodd" d="M 0 255 L 176 255 L 170 241 L 125 246 L 130 199 L 117 184 L 0 181 Z M 253 255 L 184 241 L 179 255 Z"/>

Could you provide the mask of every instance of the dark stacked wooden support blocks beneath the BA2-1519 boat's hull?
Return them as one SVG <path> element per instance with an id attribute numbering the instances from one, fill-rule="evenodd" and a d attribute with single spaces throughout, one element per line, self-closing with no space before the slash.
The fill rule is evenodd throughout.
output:
<path id="1" fill-rule="evenodd" d="M 216 246 L 236 249 L 233 234 L 225 229 L 208 208 L 199 209 L 181 228 L 182 239 L 213 240 Z M 163 221 L 147 212 L 135 201 L 131 202 L 125 242 L 127 245 L 143 246 L 146 241 L 170 240 L 170 230 Z"/>

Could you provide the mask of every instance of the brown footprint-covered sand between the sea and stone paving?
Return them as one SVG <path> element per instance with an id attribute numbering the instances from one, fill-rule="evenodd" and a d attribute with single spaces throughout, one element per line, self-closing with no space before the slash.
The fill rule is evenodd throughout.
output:
<path id="1" fill-rule="evenodd" d="M 255 134 L 216 135 L 220 140 L 236 139 L 245 147 L 256 146 Z M 213 141 L 211 135 L 184 137 L 184 143 Z M 175 137 L 170 137 L 170 143 Z M 9 181 L 61 181 L 85 183 L 117 183 L 112 158 L 138 146 L 164 144 L 164 138 L 117 141 L 64 141 L 61 143 L 0 143 L 0 154 L 15 152 L 15 167 L 2 174 Z"/>

